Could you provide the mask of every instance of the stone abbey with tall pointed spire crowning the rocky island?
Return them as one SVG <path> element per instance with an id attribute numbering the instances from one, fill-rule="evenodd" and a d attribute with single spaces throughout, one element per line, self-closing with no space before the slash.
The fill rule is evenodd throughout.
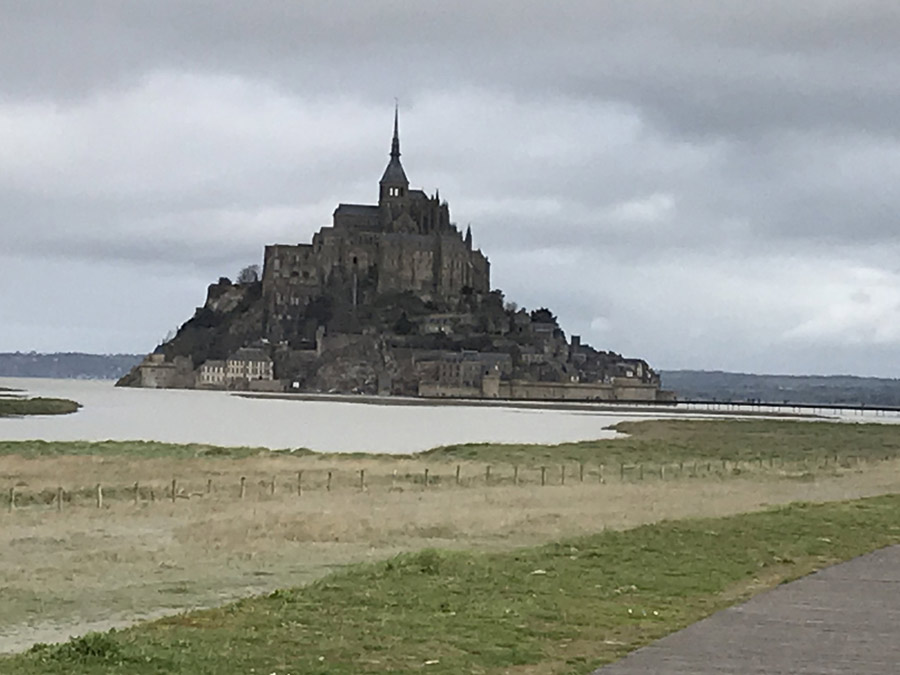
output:
<path id="1" fill-rule="evenodd" d="M 333 225 L 311 244 L 266 246 L 262 281 L 267 333 L 274 341 L 296 333 L 305 308 L 326 295 L 351 306 L 405 292 L 448 301 L 487 293 L 491 285 L 490 263 L 473 250 L 471 229 L 460 233 L 438 193 L 410 189 L 400 163 L 396 109 L 378 204 L 339 204 Z"/>

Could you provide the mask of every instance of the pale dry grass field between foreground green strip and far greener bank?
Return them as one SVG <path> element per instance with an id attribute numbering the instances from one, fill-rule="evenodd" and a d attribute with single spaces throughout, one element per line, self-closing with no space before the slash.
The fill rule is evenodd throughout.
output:
<path id="1" fill-rule="evenodd" d="M 486 466 L 433 457 L 6 456 L 0 481 L 18 485 L 24 507 L 0 513 L 0 650 L 64 638 L 79 626 L 100 628 L 294 586 L 351 562 L 423 546 L 508 548 L 900 488 L 897 461 L 831 466 L 817 475 L 798 467 L 700 477 L 686 471 L 665 481 L 648 472 L 644 481 L 632 476 L 623 482 L 610 471 L 603 484 L 592 466 L 579 482 L 578 465 L 571 464 L 567 485 L 558 485 L 554 466 L 547 474 L 554 484 L 546 487 L 533 466 L 513 486 L 509 465 L 492 466 L 492 484 L 485 485 Z M 364 491 L 359 470 L 365 471 Z M 296 494 L 299 471 L 302 496 Z M 328 471 L 331 491 L 325 489 Z M 167 494 L 172 477 L 180 495 L 174 503 Z M 206 494 L 210 479 L 213 491 Z M 135 481 L 141 486 L 137 505 Z M 106 494 L 103 509 L 93 503 L 97 483 Z M 52 497 L 60 484 L 70 501 L 57 512 Z"/>

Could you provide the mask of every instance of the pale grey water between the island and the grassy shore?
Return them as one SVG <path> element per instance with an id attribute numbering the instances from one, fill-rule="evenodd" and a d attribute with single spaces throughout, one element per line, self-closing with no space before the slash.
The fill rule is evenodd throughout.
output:
<path id="1" fill-rule="evenodd" d="M 0 418 L 3 440 L 156 440 L 408 453 L 471 442 L 561 443 L 609 438 L 632 414 L 478 406 L 364 405 L 248 399 L 220 391 L 121 389 L 112 382 L 0 378 L 0 387 L 84 407 L 59 417 Z"/>

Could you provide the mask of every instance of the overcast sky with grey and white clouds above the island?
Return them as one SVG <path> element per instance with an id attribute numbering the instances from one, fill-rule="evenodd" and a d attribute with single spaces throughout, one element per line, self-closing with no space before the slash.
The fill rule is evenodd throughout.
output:
<path id="1" fill-rule="evenodd" d="M 0 351 L 146 352 L 414 187 L 659 369 L 900 376 L 900 5 L 0 1 Z"/>

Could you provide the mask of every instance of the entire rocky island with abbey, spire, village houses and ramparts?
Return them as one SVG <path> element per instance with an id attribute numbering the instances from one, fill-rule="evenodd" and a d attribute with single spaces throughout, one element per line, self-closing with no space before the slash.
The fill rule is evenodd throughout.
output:
<path id="1" fill-rule="evenodd" d="M 397 113 L 377 204 L 339 204 L 308 244 L 221 278 L 123 386 L 532 400 L 660 401 L 646 361 L 567 339 L 491 288 L 436 191 L 410 189 Z"/>

